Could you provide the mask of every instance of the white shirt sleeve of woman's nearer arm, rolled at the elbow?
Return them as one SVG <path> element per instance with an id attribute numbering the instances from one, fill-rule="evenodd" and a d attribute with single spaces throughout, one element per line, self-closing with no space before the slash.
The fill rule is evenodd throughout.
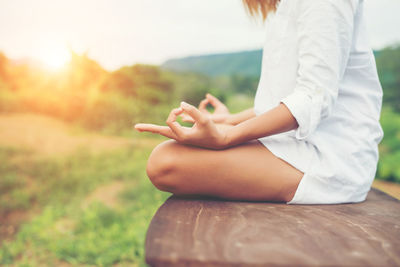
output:
<path id="1" fill-rule="evenodd" d="M 307 138 L 328 117 L 338 97 L 354 27 L 353 0 L 297 0 L 296 87 L 281 99 L 297 120 L 297 139 Z"/>

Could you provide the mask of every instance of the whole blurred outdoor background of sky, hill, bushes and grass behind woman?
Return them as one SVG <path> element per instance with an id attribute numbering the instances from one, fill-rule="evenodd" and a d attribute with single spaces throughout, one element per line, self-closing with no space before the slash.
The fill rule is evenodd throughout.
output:
<path id="1" fill-rule="evenodd" d="M 374 186 L 399 198 L 398 10 L 365 1 L 384 90 Z M 0 265 L 144 265 L 169 196 L 145 165 L 165 139 L 133 124 L 206 92 L 251 107 L 264 41 L 241 0 L 0 0 Z"/>

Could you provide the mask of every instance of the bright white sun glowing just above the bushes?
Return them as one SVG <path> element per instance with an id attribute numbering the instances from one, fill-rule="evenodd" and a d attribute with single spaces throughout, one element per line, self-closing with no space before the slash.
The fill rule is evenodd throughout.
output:
<path id="1" fill-rule="evenodd" d="M 71 52 L 65 45 L 48 44 L 47 47 L 43 46 L 41 50 L 37 56 L 38 60 L 50 70 L 61 69 L 71 59 Z"/>

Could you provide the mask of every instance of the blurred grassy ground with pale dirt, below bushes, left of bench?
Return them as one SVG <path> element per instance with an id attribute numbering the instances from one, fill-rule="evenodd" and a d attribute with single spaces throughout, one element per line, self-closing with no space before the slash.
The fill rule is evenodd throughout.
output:
<path id="1" fill-rule="evenodd" d="M 77 131 L 53 118 L 0 116 L 0 263 L 143 265 L 151 217 L 168 197 L 145 174 L 161 139 Z"/>

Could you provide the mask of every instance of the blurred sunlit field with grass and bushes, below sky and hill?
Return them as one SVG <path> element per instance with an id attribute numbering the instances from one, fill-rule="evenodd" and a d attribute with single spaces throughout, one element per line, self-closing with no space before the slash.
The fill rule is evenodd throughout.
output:
<path id="1" fill-rule="evenodd" d="M 399 62 L 400 47 L 377 57 L 385 137 L 374 186 L 400 199 Z M 164 123 L 206 92 L 238 112 L 257 81 L 140 64 L 109 72 L 74 53 L 49 72 L 0 53 L 0 265 L 144 266 L 147 227 L 169 196 L 146 160 L 165 139 L 133 124 Z"/>

